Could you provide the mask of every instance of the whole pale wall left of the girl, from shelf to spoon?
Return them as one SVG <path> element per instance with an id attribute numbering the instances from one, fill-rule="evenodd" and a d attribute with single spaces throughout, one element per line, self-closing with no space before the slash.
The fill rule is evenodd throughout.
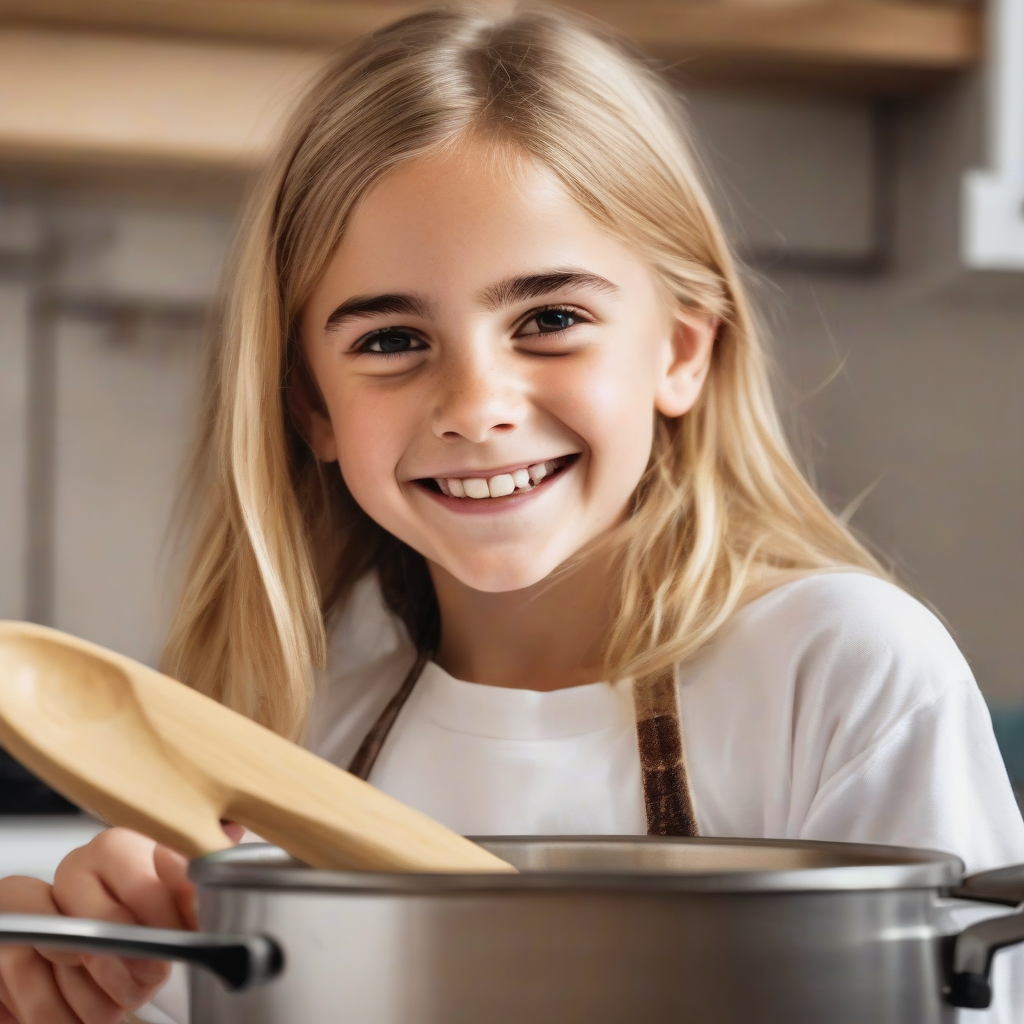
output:
<path id="1" fill-rule="evenodd" d="M 0 205 L 0 614 L 156 662 L 203 310 L 231 215 L 47 196 Z M 34 297 L 45 310 L 35 327 Z M 30 335 L 53 346 L 52 420 L 32 437 L 30 409 L 47 395 L 38 374 L 30 383 Z M 30 458 L 52 463 L 37 505 Z M 29 524 L 47 516 L 52 557 L 28 555 Z"/>

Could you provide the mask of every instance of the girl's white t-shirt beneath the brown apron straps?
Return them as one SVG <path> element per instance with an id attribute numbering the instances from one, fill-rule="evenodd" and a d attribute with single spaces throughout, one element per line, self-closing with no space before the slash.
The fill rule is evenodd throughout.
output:
<path id="1" fill-rule="evenodd" d="M 332 632 L 309 749 L 347 767 L 413 658 L 376 580 L 364 581 Z M 969 871 L 1024 862 L 971 670 L 938 618 L 891 584 L 858 572 L 784 584 L 678 678 L 702 835 L 928 847 Z M 646 831 L 628 680 L 513 690 L 431 663 L 370 781 L 464 835 Z M 965 1021 L 1024 1016 L 1008 991 L 1022 961 L 996 958 L 993 1012 Z"/>

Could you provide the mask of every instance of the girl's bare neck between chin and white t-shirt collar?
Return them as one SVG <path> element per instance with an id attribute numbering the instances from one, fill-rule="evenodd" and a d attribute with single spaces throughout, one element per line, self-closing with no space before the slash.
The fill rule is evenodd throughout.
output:
<path id="1" fill-rule="evenodd" d="M 430 571 L 442 624 L 435 660 L 457 679 L 560 690 L 604 678 L 614 594 L 606 560 L 588 558 L 555 580 L 502 594 L 472 590 L 437 565 Z"/>

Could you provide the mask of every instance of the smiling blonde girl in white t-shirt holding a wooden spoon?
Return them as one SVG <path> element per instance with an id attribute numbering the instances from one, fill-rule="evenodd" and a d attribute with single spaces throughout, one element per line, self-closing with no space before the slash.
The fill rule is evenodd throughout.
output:
<path id="1" fill-rule="evenodd" d="M 786 450 L 681 125 L 545 10 L 420 14 L 323 76 L 241 234 L 166 669 L 463 833 L 1024 860 L 968 666 Z M 121 829 L 0 907 L 193 924 Z M 6 949 L 3 1020 L 164 978 Z"/>

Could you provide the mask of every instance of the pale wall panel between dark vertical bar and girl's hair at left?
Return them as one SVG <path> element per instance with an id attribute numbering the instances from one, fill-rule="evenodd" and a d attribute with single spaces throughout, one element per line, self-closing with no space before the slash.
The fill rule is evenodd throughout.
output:
<path id="1" fill-rule="evenodd" d="M 52 625 L 155 664 L 198 338 L 144 326 L 119 337 L 106 324 L 62 317 L 56 342 Z"/>

